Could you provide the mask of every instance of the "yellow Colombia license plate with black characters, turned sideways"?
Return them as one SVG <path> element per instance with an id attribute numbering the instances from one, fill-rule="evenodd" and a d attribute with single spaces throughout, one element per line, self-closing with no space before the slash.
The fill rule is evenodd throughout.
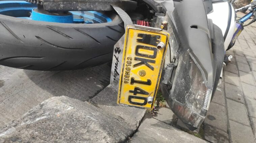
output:
<path id="1" fill-rule="evenodd" d="M 168 38 L 167 32 L 127 26 L 118 104 L 153 109 Z"/>

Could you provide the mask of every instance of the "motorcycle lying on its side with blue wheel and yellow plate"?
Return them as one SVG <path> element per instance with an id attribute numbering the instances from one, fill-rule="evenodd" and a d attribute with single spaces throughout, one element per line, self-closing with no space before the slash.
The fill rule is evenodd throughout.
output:
<path id="1" fill-rule="evenodd" d="M 158 88 L 190 130 L 200 127 L 225 51 L 241 33 L 226 0 L 0 1 L 0 64 L 73 70 L 112 59 L 118 103 L 152 109 Z M 255 18 L 252 22 L 255 21 Z"/>

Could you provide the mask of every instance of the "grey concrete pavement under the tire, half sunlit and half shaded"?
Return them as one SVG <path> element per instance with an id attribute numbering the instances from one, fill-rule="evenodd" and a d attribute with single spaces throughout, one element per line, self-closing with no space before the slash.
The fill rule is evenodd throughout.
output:
<path id="1" fill-rule="evenodd" d="M 0 127 L 54 96 L 87 101 L 109 84 L 103 64 L 71 71 L 34 71 L 0 66 Z"/>

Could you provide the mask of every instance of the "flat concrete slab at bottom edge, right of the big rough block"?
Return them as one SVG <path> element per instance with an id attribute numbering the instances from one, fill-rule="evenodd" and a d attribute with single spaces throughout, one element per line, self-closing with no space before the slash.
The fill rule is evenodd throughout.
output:
<path id="1" fill-rule="evenodd" d="M 154 118 L 147 118 L 132 136 L 131 143 L 201 143 L 207 142 Z"/>

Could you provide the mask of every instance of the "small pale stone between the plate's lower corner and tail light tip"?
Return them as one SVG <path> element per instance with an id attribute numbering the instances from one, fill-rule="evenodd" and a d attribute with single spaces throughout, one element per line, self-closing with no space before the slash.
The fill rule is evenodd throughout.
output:
<path id="1" fill-rule="evenodd" d="M 173 125 L 173 122 L 176 122 L 177 120 L 177 116 L 173 113 L 173 111 L 170 108 L 164 107 L 159 108 L 156 116 L 154 116 L 153 118 L 170 125 Z"/>

